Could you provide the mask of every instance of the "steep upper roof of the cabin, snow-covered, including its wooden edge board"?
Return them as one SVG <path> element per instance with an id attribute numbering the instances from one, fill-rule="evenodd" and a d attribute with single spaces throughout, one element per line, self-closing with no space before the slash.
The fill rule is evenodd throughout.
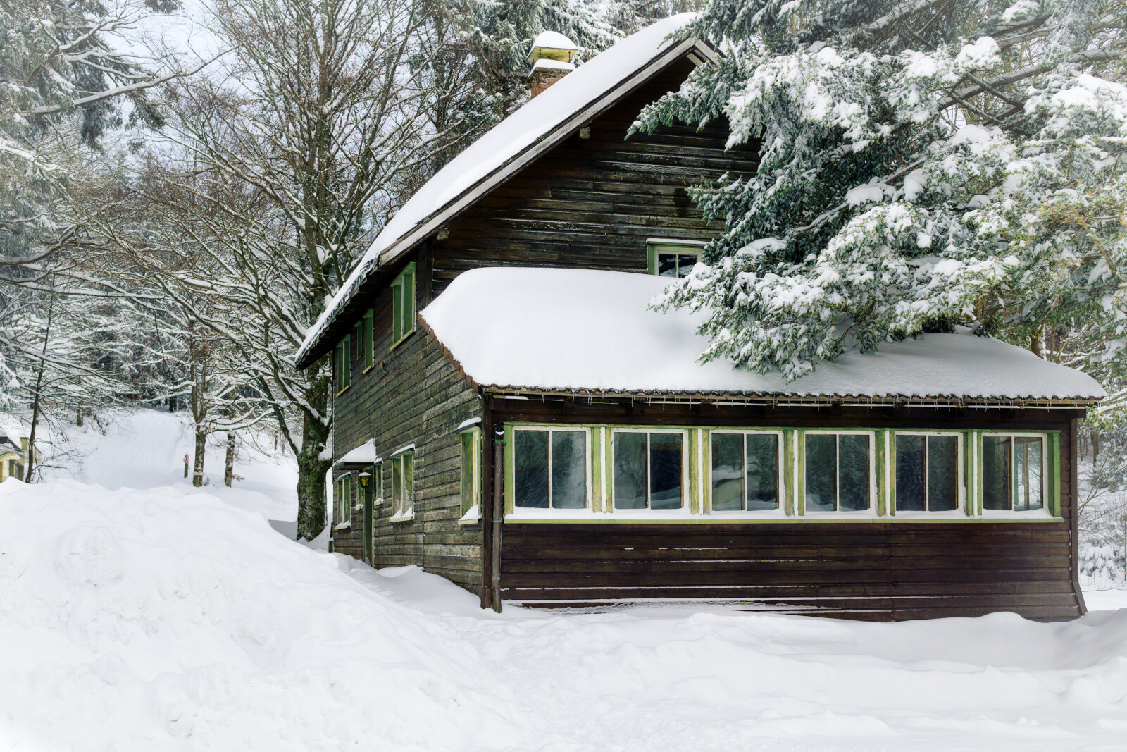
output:
<path id="1" fill-rule="evenodd" d="M 651 71 L 694 47 L 703 59 L 715 59 L 711 47 L 700 39 L 668 38 L 693 17 L 681 14 L 657 21 L 595 55 L 450 160 L 372 241 L 325 312 L 305 333 L 296 362 L 304 364 L 318 350 L 328 325 L 373 271 L 410 250 L 487 191 L 585 125 Z"/>

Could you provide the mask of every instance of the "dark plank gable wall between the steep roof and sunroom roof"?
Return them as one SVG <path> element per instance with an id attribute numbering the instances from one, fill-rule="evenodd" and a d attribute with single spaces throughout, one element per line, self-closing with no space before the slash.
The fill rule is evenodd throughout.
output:
<path id="1" fill-rule="evenodd" d="M 627 140 L 641 108 L 691 70 L 671 65 L 592 122 L 589 139 L 569 138 L 453 220 L 434 246 L 435 294 L 479 266 L 645 272 L 647 238 L 717 237 L 722 223 L 706 222 L 687 188 L 754 172 L 756 150 L 725 151 L 726 123 Z"/>

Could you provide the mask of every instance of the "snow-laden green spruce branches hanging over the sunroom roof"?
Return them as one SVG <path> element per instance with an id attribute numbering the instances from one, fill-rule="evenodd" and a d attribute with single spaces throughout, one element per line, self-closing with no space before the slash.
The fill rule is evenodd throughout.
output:
<path id="1" fill-rule="evenodd" d="M 1112 1 L 713 0 L 726 50 L 637 129 L 727 117 L 754 175 L 694 196 L 726 233 L 664 306 L 706 359 L 797 378 L 974 327 L 1127 359 L 1127 10 Z"/>

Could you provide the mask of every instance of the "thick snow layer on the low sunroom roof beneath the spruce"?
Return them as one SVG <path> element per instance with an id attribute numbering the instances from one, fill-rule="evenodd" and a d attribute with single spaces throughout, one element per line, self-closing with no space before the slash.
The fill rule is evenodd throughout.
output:
<path id="1" fill-rule="evenodd" d="M 846 353 L 790 383 L 778 373 L 698 363 L 701 315 L 649 310 L 666 277 L 624 272 L 479 268 L 421 317 L 479 384 L 544 391 L 842 397 L 1090 399 L 1091 377 L 970 333 L 928 334 Z"/>

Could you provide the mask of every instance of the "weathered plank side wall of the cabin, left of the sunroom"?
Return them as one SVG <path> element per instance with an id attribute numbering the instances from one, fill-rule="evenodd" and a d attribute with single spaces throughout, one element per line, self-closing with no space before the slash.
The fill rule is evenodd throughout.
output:
<path id="1" fill-rule="evenodd" d="M 375 507 L 374 565 L 420 565 L 477 594 L 481 587 L 481 525 L 458 522 L 462 514 L 461 453 L 454 430 L 467 418 L 481 415 L 481 400 L 423 329 L 391 350 L 390 291 L 384 289 L 372 302 L 375 364 L 363 373 L 363 363 L 354 363 L 352 386 L 336 398 L 334 455 L 339 458 L 373 437 L 384 459 L 415 444 L 415 519 L 389 522 L 390 498 Z M 384 462 L 383 469 L 383 487 L 390 497 L 390 462 Z M 335 531 L 334 548 L 363 558 L 360 510 L 353 511 L 348 530 Z"/>

